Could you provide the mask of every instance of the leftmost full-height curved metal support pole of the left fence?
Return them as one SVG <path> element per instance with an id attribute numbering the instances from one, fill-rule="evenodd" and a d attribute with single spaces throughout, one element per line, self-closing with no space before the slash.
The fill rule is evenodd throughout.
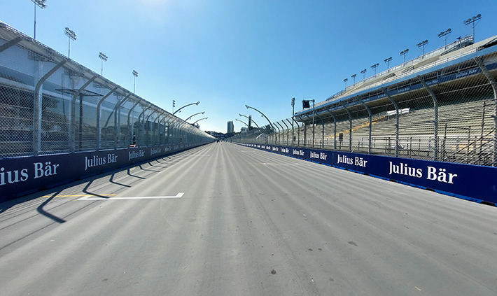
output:
<path id="1" fill-rule="evenodd" d="M 5 45 L 5 44 L 4 44 Z M 15 45 L 15 44 L 14 44 Z M 43 95 L 41 94 L 41 86 L 50 76 L 53 75 L 58 69 L 60 69 L 67 62 L 67 59 L 63 59 L 57 66 L 53 67 L 52 70 L 48 71 L 34 87 L 34 101 L 33 101 L 33 153 L 34 156 L 38 156 L 41 151 L 41 111 L 42 111 L 42 100 Z"/>

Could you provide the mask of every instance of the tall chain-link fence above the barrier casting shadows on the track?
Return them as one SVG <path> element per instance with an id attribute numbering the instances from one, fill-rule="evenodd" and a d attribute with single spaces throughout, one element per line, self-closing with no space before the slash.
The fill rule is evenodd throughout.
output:
<path id="1" fill-rule="evenodd" d="M 0 158 L 214 137 L 0 22 Z"/>

